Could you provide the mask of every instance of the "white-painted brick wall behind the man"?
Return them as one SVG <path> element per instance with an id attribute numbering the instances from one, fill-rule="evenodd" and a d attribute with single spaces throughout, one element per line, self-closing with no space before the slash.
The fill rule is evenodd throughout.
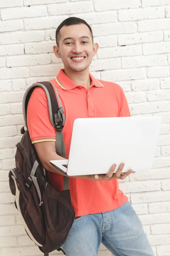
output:
<path id="1" fill-rule="evenodd" d="M 8 171 L 23 125 L 23 93 L 62 67 L 52 47 L 57 26 L 70 16 L 91 24 L 99 43 L 92 74 L 122 86 L 132 115 L 163 117 L 153 169 L 120 188 L 155 255 L 170 256 L 170 0 L 0 0 L 0 256 L 42 256 L 17 215 Z M 99 256 L 106 255 L 101 245 Z"/>

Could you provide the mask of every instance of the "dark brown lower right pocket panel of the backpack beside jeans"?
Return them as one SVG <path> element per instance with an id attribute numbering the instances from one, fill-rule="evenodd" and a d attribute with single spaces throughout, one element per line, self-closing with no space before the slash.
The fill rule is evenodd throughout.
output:
<path id="1" fill-rule="evenodd" d="M 50 183 L 46 186 L 43 195 L 45 208 L 45 224 L 49 238 L 60 247 L 68 236 L 74 222 L 75 212 L 71 206 L 70 191 L 57 192 Z M 70 202 L 69 202 L 70 201 Z"/>

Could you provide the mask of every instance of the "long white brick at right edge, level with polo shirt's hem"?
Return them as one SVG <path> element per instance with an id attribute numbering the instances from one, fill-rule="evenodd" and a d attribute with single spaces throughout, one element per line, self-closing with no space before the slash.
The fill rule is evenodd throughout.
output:
<path id="1" fill-rule="evenodd" d="M 170 201 L 170 191 L 145 192 L 130 195 L 132 204 Z"/>

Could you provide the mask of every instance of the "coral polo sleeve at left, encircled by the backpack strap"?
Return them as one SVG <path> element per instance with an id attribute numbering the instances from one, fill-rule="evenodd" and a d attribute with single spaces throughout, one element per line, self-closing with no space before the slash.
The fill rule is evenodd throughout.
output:
<path id="1" fill-rule="evenodd" d="M 50 122 L 47 97 L 40 87 L 34 89 L 29 99 L 27 126 L 32 143 L 56 141 L 56 130 Z"/>

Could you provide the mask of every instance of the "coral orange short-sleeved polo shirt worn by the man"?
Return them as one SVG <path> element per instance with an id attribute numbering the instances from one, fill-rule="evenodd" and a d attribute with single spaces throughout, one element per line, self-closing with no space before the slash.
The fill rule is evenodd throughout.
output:
<path id="1" fill-rule="evenodd" d="M 88 90 L 75 84 L 63 70 L 51 82 L 57 87 L 65 110 L 63 136 L 67 158 L 69 156 L 73 122 L 76 118 L 130 116 L 122 88 L 115 83 L 95 79 L 90 73 Z M 27 111 L 28 131 L 32 143 L 55 141 L 56 131 L 51 125 L 45 92 L 37 87 L 31 94 Z M 105 127 L 107 132 L 107 127 Z M 63 190 L 63 176 L 48 172 L 51 184 Z M 107 212 L 120 207 L 127 197 L 119 190 L 117 179 L 92 181 L 69 178 L 71 201 L 76 216 Z"/>

